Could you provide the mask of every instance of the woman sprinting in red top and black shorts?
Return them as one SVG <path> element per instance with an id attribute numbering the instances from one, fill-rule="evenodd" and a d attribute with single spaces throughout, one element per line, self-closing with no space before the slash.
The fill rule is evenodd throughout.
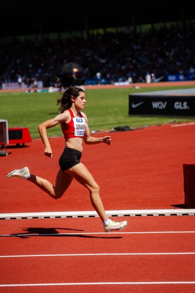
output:
<path id="1" fill-rule="evenodd" d="M 14 176 L 25 178 L 39 188 L 47 192 L 51 197 L 60 198 L 70 186 L 73 178 L 86 187 L 90 192 L 91 203 L 97 211 L 104 230 L 110 232 L 121 230 L 127 225 L 127 221 L 116 223 L 111 221 L 105 213 L 99 187 L 87 167 L 80 162 L 82 155 L 82 141 L 88 145 L 111 144 L 111 137 L 92 137 L 88 127 L 87 117 L 83 112 L 86 104 L 84 90 L 78 87 L 69 87 L 61 97 L 58 98 L 60 114 L 55 118 L 47 120 L 38 126 L 41 140 L 45 146 L 44 154 L 52 158 L 52 149 L 47 137 L 47 129 L 60 124 L 65 138 L 65 148 L 59 158 L 59 171 L 56 177 L 55 187 L 37 175 L 31 174 L 28 167 L 13 170 L 7 178 Z"/>

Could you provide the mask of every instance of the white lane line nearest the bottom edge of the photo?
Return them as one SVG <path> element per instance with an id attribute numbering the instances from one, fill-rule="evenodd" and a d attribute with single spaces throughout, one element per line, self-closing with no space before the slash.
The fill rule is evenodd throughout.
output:
<path id="1" fill-rule="evenodd" d="M 185 285 L 195 284 L 195 281 L 181 282 L 93 282 L 93 283 L 35 283 L 35 284 L 0 284 L 0 287 L 27 287 L 27 286 L 83 286 L 83 285 Z"/>

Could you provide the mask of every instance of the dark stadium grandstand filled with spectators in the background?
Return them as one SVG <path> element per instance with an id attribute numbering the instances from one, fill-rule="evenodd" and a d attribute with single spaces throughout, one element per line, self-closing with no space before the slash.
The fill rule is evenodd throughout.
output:
<path id="1" fill-rule="evenodd" d="M 0 87 L 55 86 L 70 62 L 76 84 L 195 80 L 193 1 L 104 2 L 1 2 Z"/>

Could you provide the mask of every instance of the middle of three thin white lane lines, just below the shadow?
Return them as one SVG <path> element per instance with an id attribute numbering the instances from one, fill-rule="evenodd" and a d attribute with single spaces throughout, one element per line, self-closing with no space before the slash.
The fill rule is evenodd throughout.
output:
<path id="1" fill-rule="evenodd" d="M 105 255 L 188 255 L 195 252 L 143 252 L 143 253 L 67 253 L 67 254 L 23 254 L 23 255 L 0 255 L 3 257 L 46 257 L 46 256 L 105 256 Z"/>

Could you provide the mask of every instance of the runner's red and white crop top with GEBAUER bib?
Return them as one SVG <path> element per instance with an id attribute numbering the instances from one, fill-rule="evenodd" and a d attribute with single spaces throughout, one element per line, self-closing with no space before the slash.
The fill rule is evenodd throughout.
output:
<path id="1" fill-rule="evenodd" d="M 86 122 L 82 114 L 79 112 L 80 118 L 75 117 L 72 110 L 68 109 L 71 120 L 65 125 L 61 125 L 65 138 L 83 137 L 86 128 Z"/>

